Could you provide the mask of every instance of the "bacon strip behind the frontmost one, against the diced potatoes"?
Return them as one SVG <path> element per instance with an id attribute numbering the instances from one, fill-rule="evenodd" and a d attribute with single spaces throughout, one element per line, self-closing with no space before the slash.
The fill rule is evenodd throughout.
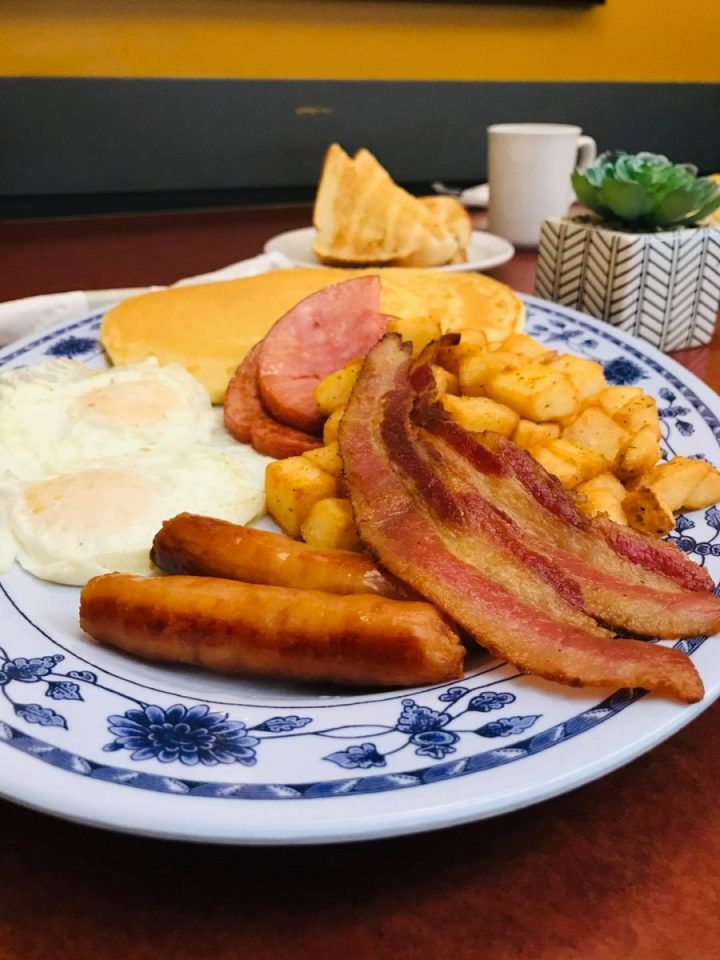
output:
<path id="1" fill-rule="evenodd" d="M 684 554 L 670 545 L 659 551 L 652 545 L 643 556 L 660 556 L 660 569 L 659 564 L 648 569 L 621 555 L 610 540 L 625 537 L 630 545 L 639 544 L 639 553 L 645 539 L 619 527 L 615 534 L 615 524 L 582 516 L 556 478 L 504 437 L 464 430 L 437 399 L 429 358 L 422 358 L 411 381 L 419 391 L 413 416 L 427 431 L 427 441 L 466 483 L 517 524 L 528 549 L 544 553 L 576 582 L 589 613 L 645 636 L 672 638 L 720 629 L 720 601 L 707 586 L 697 586 L 703 582 L 712 588 L 712 581 L 704 571 L 696 576 L 693 571 L 701 568 Z"/>

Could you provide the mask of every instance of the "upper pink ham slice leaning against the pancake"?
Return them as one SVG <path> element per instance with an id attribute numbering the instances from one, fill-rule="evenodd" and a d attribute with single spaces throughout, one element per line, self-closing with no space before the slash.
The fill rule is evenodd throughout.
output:
<path id="1" fill-rule="evenodd" d="M 266 408 L 283 423 L 318 432 L 322 414 L 315 387 L 364 357 L 386 330 L 378 276 L 345 280 L 301 300 L 262 342 L 258 382 Z"/>

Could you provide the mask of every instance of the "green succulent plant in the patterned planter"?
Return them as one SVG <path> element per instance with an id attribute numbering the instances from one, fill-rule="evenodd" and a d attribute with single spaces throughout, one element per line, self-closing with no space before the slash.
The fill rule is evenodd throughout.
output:
<path id="1" fill-rule="evenodd" d="M 657 153 L 603 153 L 575 170 L 572 185 L 580 203 L 623 229 L 692 226 L 720 207 L 719 184 Z"/>

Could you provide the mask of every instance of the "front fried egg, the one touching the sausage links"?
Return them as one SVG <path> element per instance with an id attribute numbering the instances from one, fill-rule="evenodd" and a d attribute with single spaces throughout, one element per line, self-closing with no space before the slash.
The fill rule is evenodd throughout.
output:
<path id="1" fill-rule="evenodd" d="M 28 484 L 8 510 L 20 564 L 43 580 L 82 585 L 119 571 L 154 571 L 149 549 L 185 510 L 247 523 L 264 509 L 262 486 L 235 449 L 141 451 Z"/>

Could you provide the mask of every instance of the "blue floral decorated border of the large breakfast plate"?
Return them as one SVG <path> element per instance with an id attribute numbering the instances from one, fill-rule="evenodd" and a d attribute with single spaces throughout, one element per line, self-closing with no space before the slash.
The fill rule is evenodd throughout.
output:
<path id="1" fill-rule="evenodd" d="M 42 355 L 92 359 L 100 319 L 95 315 L 68 324 L 6 351 L 0 366 Z M 555 349 L 599 360 L 609 382 L 654 391 L 668 455 L 718 462 L 720 420 L 650 353 L 597 321 L 532 298 L 527 328 Z M 671 538 L 697 562 L 714 564 L 717 578 L 716 508 L 679 518 Z M 537 681 L 497 661 L 481 663 L 460 684 L 329 703 L 298 694 L 283 695 L 269 706 L 257 697 L 193 696 L 188 689 L 164 689 L 172 687 L 172 678 L 154 680 L 152 670 L 125 676 L 114 660 L 103 659 L 82 639 L 55 636 L 33 617 L 30 588 L 25 590 L 23 582 L 20 590 L 18 582 L 0 578 L 0 608 L 7 614 L 0 628 L 0 749 L 123 788 L 277 801 L 439 784 L 554 749 L 618 717 L 644 696 L 622 690 L 600 702 L 583 701 L 577 709 L 559 688 L 549 698 L 539 692 Z M 703 640 L 677 646 L 693 654 Z M 93 718 L 89 727 L 87 717 Z M 483 741 L 485 749 L 477 752 Z M 110 755 L 123 764 L 108 763 Z M 238 774 L 223 779 L 219 770 Z"/>

